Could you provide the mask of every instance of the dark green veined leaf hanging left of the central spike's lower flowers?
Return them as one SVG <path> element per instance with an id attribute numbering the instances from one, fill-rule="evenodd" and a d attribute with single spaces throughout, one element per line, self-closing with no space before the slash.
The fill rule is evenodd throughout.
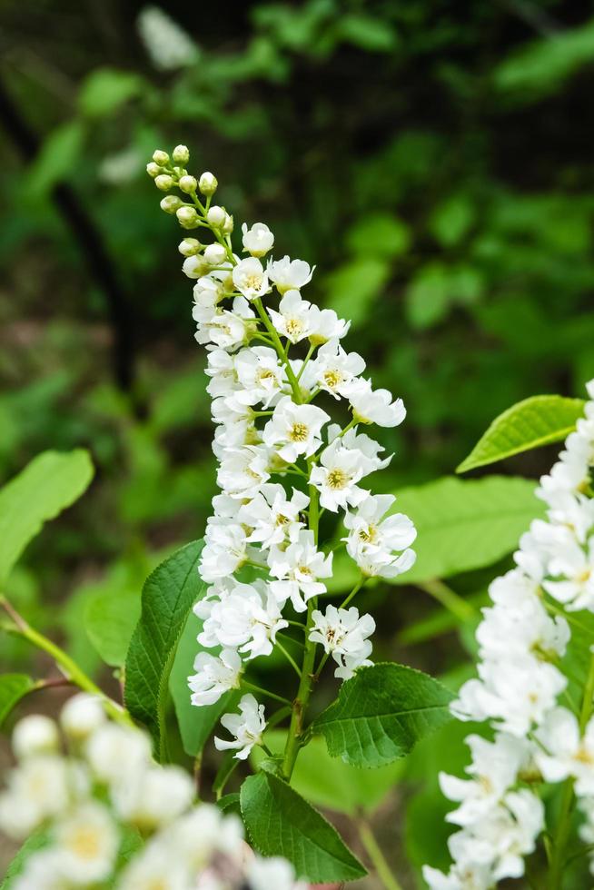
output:
<path id="1" fill-rule="evenodd" d="M 176 550 L 143 588 L 141 617 L 126 658 L 126 706 L 149 728 L 160 759 L 166 756 L 169 677 L 188 612 L 203 591 L 198 561 L 203 541 Z"/>

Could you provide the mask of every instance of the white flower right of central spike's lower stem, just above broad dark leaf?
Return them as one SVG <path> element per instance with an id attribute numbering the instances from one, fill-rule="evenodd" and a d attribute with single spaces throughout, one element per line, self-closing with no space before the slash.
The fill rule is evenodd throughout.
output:
<path id="1" fill-rule="evenodd" d="M 361 615 L 359 609 L 328 606 L 325 613 L 312 612 L 313 626 L 310 639 L 322 643 L 325 652 L 332 653 L 338 667 L 334 677 L 348 680 L 363 665 L 371 665 L 371 641 L 368 637 L 375 630 L 371 615 Z"/>

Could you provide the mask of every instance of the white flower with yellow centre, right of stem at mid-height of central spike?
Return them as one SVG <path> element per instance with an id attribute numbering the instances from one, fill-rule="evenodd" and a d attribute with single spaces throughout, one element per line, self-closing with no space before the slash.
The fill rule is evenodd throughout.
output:
<path id="1" fill-rule="evenodd" d="M 320 462 L 310 473 L 312 484 L 320 492 L 322 507 L 336 513 L 339 507 L 357 507 L 369 497 L 369 491 L 357 485 L 364 475 L 364 467 L 361 451 L 344 448 L 340 439 L 324 449 Z"/>

